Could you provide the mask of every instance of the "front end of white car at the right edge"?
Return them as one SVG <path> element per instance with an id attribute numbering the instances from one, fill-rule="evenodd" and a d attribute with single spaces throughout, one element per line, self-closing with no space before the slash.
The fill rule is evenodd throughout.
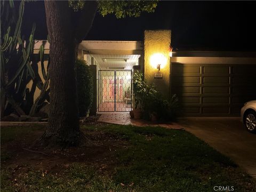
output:
<path id="1" fill-rule="evenodd" d="M 247 131 L 256 133 L 256 100 L 244 103 L 241 109 L 241 120 Z"/>

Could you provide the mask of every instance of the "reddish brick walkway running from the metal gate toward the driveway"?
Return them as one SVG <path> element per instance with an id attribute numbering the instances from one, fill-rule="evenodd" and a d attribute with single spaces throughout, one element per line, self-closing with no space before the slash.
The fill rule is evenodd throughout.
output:
<path id="1" fill-rule="evenodd" d="M 118 125 L 135 125 L 135 126 L 162 126 L 167 129 L 182 129 L 178 123 L 170 122 L 168 124 L 159 124 L 148 122 L 142 119 L 131 119 L 129 113 L 104 113 L 98 119 L 99 122 L 112 123 Z"/>

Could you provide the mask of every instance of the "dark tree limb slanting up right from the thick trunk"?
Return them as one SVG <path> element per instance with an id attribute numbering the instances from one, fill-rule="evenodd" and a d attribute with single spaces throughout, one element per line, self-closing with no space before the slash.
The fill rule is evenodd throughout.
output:
<path id="1" fill-rule="evenodd" d="M 84 9 L 74 33 L 76 43 L 82 42 L 84 37 L 89 33 L 97 10 L 97 1 L 85 1 Z"/>

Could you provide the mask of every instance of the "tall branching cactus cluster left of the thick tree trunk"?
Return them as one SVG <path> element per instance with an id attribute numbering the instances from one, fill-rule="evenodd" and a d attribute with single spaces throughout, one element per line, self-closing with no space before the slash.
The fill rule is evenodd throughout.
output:
<path id="1" fill-rule="evenodd" d="M 43 98 L 49 93 L 49 75 L 43 70 L 43 77 L 45 79 L 43 84 L 42 81 L 40 81 L 41 79 L 38 75 L 38 71 L 34 70 L 32 67 L 35 44 L 35 25 L 33 25 L 28 39 L 25 40 L 21 38 L 24 7 L 25 1 L 22 0 L 19 4 L 18 18 L 15 20 L 13 15 L 11 15 L 13 18 L 10 17 L 10 12 L 14 9 L 13 1 L 10 0 L 9 4 L 5 1 L 1 1 L 1 18 L 5 18 L 1 19 L 1 26 L 6 29 L 3 36 L 1 33 L 0 45 L 1 116 L 4 115 L 6 107 L 10 105 L 19 115 L 25 115 L 25 111 L 28 111 L 29 114 L 34 114 L 38 105 L 43 102 Z M 3 12 L 5 12 L 5 15 Z M 7 24 L 4 22 L 7 22 Z M 42 63 L 43 54 L 43 47 L 41 47 L 40 57 L 42 68 L 44 67 L 44 64 Z M 33 87 L 29 92 L 27 84 L 31 80 L 33 81 Z M 41 90 L 41 94 L 33 104 L 35 86 Z M 28 94 L 30 94 L 30 97 L 27 97 Z M 28 103 L 33 104 L 33 110 L 32 108 L 26 110 L 26 108 L 31 107 Z M 32 113 L 33 111 L 34 113 Z"/>

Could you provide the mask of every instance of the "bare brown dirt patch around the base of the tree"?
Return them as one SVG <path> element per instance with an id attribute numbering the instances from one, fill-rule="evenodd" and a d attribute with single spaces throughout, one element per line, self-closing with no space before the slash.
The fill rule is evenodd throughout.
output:
<path id="1" fill-rule="evenodd" d="M 86 122 L 84 124 L 86 125 Z M 102 125 L 97 122 L 96 118 L 88 119 L 87 124 Z M 68 169 L 72 163 L 82 163 L 108 174 L 113 173 L 117 164 L 116 150 L 125 148 L 129 144 L 118 139 L 116 135 L 102 131 L 83 130 L 83 132 L 96 144 L 95 146 L 51 150 L 29 148 L 35 138 L 39 138 L 43 134 L 43 130 L 31 132 L 30 136 L 26 138 L 21 136 L 13 141 L 3 143 L 1 155 L 7 156 L 7 158 L 1 162 L 1 168 L 11 171 L 13 178 L 31 169 L 41 171 L 42 174 L 59 174 L 63 169 Z"/>

